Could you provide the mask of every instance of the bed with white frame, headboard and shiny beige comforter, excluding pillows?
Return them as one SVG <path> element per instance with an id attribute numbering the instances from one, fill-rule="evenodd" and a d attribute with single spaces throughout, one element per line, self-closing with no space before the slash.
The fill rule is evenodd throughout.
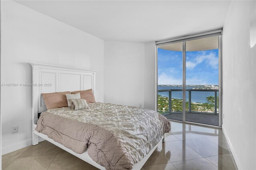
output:
<path id="1" fill-rule="evenodd" d="M 41 93 L 91 88 L 96 94 L 96 71 L 30 64 L 33 84 L 40 84 L 33 86 L 33 145 L 45 139 L 99 169 L 137 170 L 170 131 L 166 118 L 139 107 L 96 102 L 77 111 L 46 110 Z M 50 87 L 44 86 L 50 82 Z"/>

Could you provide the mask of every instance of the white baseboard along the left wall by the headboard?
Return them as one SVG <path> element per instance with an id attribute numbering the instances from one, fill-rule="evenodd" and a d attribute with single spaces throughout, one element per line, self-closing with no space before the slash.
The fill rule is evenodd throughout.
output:
<path id="1" fill-rule="evenodd" d="M 45 139 L 39 137 L 38 142 L 41 142 L 43 140 L 45 140 Z M 4 147 L 2 147 L 2 155 L 8 154 L 10 152 L 13 152 L 13 151 L 21 149 L 21 148 L 25 148 L 30 145 L 32 145 L 32 138 L 4 146 Z"/>

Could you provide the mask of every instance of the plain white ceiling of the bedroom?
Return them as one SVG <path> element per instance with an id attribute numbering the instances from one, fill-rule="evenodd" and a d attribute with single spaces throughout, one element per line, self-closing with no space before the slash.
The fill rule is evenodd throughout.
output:
<path id="1" fill-rule="evenodd" d="M 103 40 L 151 42 L 221 28 L 230 1 L 16 1 Z"/>

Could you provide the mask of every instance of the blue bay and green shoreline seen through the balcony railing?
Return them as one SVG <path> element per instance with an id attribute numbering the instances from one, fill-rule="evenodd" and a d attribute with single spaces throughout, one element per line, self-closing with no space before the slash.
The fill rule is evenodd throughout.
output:
<path id="1" fill-rule="evenodd" d="M 169 95 L 172 113 L 181 112 L 182 85 L 158 85 L 158 112 L 170 112 Z M 218 114 L 218 85 L 187 85 L 186 111 Z"/>

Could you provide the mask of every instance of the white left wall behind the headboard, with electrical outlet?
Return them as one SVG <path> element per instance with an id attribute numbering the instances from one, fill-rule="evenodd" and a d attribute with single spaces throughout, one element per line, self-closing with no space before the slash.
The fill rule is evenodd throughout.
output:
<path id="1" fill-rule="evenodd" d="M 29 62 L 95 69 L 103 102 L 104 41 L 14 1 L 2 1 L 2 83 L 32 83 Z M 2 87 L 2 154 L 31 144 L 32 88 Z M 11 127 L 19 126 L 18 133 Z"/>

